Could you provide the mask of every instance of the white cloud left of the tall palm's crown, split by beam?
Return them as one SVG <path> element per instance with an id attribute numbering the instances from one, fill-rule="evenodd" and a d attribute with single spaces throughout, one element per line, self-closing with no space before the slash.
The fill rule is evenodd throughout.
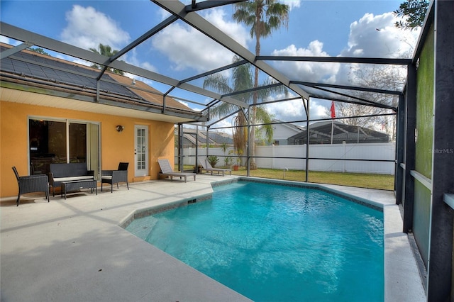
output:
<path id="1" fill-rule="evenodd" d="M 206 19 L 241 45 L 248 42 L 245 29 L 238 23 L 226 21 L 226 13 L 221 9 L 211 10 Z M 202 72 L 228 65 L 233 59 L 230 50 L 182 23 L 174 23 L 161 30 L 153 37 L 152 45 L 167 55 L 176 70 L 192 68 Z"/>

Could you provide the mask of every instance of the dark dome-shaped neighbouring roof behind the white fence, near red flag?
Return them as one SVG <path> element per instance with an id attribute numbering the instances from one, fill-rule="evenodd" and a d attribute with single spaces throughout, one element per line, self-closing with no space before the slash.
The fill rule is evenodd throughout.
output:
<path id="1" fill-rule="evenodd" d="M 333 144 L 389 142 L 389 135 L 369 128 L 347 125 L 339 121 L 324 121 L 309 125 L 310 144 L 330 144 L 333 130 Z M 289 145 L 304 145 L 307 140 L 307 130 L 301 131 L 288 138 Z"/>

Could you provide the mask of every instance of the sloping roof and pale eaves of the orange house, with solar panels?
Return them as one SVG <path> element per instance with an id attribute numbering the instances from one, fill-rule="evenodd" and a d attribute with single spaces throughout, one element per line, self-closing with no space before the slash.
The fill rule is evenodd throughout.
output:
<path id="1" fill-rule="evenodd" d="M 0 49 L 4 52 L 11 49 L 11 45 L 1 43 Z M 203 120 L 201 113 L 175 99 L 164 98 L 160 91 L 144 82 L 133 81 L 113 72 L 104 72 L 99 81 L 97 77 L 99 69 L 22 50 L 1 60 L 1 99 L 23 100 L 29 104 L 27 100 L 40 99 L 39 104 L 43 106 L 77 108 L 173 123 Z M 99 96 L 96 94 L 97 86 Z M 27 97 L 33 93 L 40 94 L 40 98 Z M 87 101 L 88 104 L 70 104 L 68 99 Z"/>

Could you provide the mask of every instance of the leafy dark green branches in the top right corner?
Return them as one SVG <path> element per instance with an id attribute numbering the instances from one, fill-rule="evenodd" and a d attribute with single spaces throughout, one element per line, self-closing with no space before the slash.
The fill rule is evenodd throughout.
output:
<path id="1" fill-rule="evenodd" d="M 427 0 L 406 0 L 394 11 L 395 16 L 406 17 L 405 21 L 394 23 L 397 28 L 414 30 L 423 26 L 428 8 Z"/>

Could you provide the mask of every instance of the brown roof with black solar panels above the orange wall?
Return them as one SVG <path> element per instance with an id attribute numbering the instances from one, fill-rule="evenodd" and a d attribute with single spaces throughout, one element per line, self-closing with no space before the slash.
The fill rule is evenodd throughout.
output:
<path id="1" fill-rule="evenodd" d="M 11 47 L 11 45 L 4 43 L 0 44 L 1 52 Z M 4 57 L 0 66 L 2 89 L 39 91 L 40 94 L 63 96 L 67 99 L 79 101 L 92 101 L 96 104 L 179 117 L 186 116 L 184 120 L 175 120 L 175 122 L 194 121 L 203 117 L 201 113 L 193 111 L 179 101 L 175 101 L 175 99 L 164 98 L 160 91 L 137 79 L 133 81 L 129 77 L 112 72 L 104 72 L 99 82 L 96 81 L 96 77 L 99 77 L 99 69 L 30 50 L 22 50 L 9 57 Z M 99 96 L 96 95 L 98 84 Z M 30 87 L 38 89 L 30 89 Z M 99 99 L 97 99 L 98 97 Z M 55 104 L 55 106 L 58 105 Z M 63 108 L 65 107 L 63 106 Z M 93 108 L 93 111 L 99 112 L 95 108 Z"/>

